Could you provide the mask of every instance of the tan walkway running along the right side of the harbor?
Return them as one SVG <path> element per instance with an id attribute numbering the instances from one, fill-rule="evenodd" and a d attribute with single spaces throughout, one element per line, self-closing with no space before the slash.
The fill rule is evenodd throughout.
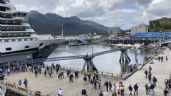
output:
<path id="1" fill-rule="evenodd" d="M 129 77 L 127 80 L 124 81 L 125 84 L 125 89 L 126 89 L 126 96 L 129 96 L 128 93 L 128 86 L 131 84 L 132 87 L 134 86 L 135 83 L 138 84 L 139 86 L 139 95 L 138 96 L 151 96 L 151 95 L 146 95 L 145 94 L 145 84 L 148 83 L 148 79 L 145 78 L 145 73 L 144 71 L 148 69 L 149 66 L 152 67 L 152 79 L 153 76 L 155 76 L 157 80 L 157 85 L 155 90 L 155 95 L 153 96 L 164 96 L 163 91 L 165 88 L 165 79 L 170 78 L 171 74 L 171 50 L 166 49 L 164 52 L 162 52 L 159 56 L 164 56 L 164 61 L 159 62 L 156 60 L 152 60 L 154 63 L 146 64 L 142 70 L 137 71 L 135 74 L 133 74 L 131 77 Z M 165 60 L 165 56 L 168 56 L 168 61 Z M 170 95 L 169 95 L 170 96 Z"/>

